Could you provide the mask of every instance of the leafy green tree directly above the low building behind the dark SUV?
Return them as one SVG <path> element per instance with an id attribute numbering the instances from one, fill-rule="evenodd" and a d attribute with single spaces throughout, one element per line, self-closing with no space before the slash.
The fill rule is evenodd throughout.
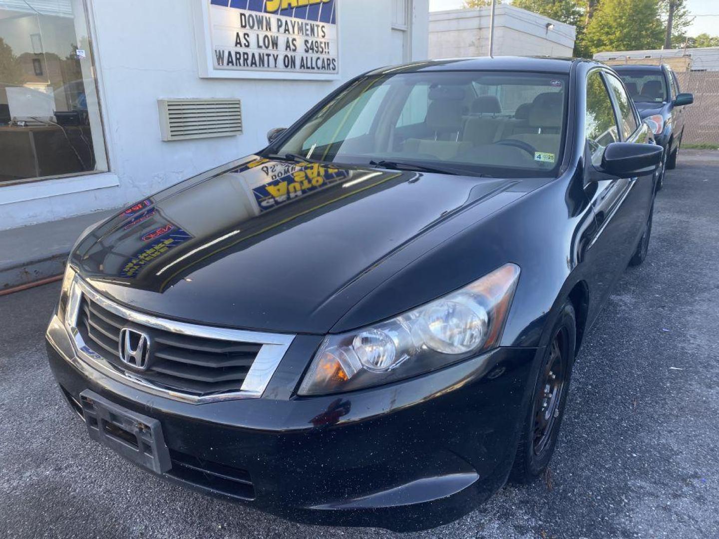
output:
<path id="1" fill-rule="evenodd" d="M 588 52 L 658 49 L 664 24 L 656 0 L 602 0 L 587 25 Z"/>

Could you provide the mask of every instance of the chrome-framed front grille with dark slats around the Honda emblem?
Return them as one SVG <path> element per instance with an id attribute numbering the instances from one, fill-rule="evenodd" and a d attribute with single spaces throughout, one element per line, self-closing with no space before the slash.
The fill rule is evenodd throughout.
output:
<path id="1" fill-rule="evenodd" d="M 79 278 L 73 282 L 68 311 L 78 356 L 86 362 L 143 390 L 191 402 L 260 397 L 293 340 L 136 313 L 103 298 Z M 150 337 L 146 370 L 120 359 L 122 328 Z"/>

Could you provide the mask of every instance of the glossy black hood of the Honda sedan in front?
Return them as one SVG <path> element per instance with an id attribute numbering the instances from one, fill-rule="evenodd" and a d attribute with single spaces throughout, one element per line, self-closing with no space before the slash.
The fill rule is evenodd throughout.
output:
<path id="1" fill-rule="evenodd" d="M 147 313 L 326 333 L 383 275 L 456 233 L 441 230 L 458 215 L 480 220 L 538 185 L 251 156 L 124 209 L 71 261 Z"/>

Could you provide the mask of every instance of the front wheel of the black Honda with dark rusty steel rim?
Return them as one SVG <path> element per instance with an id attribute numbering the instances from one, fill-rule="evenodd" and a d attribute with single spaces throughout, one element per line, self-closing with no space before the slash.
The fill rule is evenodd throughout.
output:
<path id="1" fill-rule="evenodd" d="M 533 385 L 510 473 L 510 481 L 514 483 L 536 481 L 554 454 L 569 394 L 576 346 L 577 322 L 574 307 L 567 301 L 562 305 L 559 319 L 551 330 L 551 339 Z"/>

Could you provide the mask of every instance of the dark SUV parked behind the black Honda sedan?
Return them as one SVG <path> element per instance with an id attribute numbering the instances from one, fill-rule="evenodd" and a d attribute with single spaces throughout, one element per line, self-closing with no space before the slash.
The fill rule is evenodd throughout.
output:
<path id="1" fill-rule="evenodd" d="M 672 68 L 661 65 L 613 65 L 624 82 L 642 119 L 649 122 L 657 144 L 664 148 L 659 167 L 659 185 L 664 170 L 677 166 L 679 147 L 684 136 L 684 105 L 694 102 L 691 93 L 681 93 Z"/>

